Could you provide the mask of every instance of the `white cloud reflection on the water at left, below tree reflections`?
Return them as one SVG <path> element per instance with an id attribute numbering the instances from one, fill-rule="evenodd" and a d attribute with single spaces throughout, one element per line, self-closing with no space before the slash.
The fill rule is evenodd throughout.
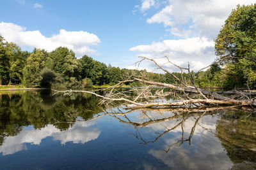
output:
<path id="1" fill-rule="evenodd" d="M 98 129 L 92 129 L 90 126 L 95 122 L 77 122 L 67 131 L 60 131 L 54 125 L 47 125 L 42 129 L 24 129 L 17 136 L 9 136 L 4 139 L 3 145 L 0 146 L 0 153 L 9 155 L 20 150 L 26 150 L 25 143 L 40 145 L 42 139 L 52 136 L 55 140 L 64 145 L 67 142 L 86 143 L 97 139 L 100 135 Z"/>

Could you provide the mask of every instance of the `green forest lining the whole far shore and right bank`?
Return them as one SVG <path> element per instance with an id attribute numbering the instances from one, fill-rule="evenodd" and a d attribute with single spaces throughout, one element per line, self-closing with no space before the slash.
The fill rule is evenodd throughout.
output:
<path id="1" fill-rule="evenodd" d="M 200 88 L 225 89 L 256 87 L 256 4 L 232 10 L 215 41 L 216 60 L 205 69 L 191 71 Z M 158 57 L 158 56 L 157 56 Z M 146 70 L 120 69 L 84 55 L 77 59 L 72 50 L 60 46 L 52 52 L 34 49 L 22 51 L 15 43 L 0 36 L 0 85 L 45 87 L 52 89 L 115 85 L 132 74 L 161 83 L 177 84 L 188 73 L 148 73 Z M 174 76 L 173 76 L 174 75 Z M 139 82 L 125 85 L 140 86 Z"/>

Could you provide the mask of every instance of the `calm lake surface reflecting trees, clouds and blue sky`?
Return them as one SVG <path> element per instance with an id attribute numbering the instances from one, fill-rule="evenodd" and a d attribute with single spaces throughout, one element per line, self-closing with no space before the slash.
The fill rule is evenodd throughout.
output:
<path id="1" fill-rule="evenodd" d="M 256 117 L 243 110 L 103 108 L 104 115 L 90 94 L 0 97 L 0 169 L 230 169 L 256 162 Z"/>

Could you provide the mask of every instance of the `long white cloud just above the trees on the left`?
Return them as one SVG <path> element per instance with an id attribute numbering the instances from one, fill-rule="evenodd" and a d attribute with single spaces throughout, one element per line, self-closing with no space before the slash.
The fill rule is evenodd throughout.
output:
<path id="1" fill-rule="evenodd" d="M 66 46 L 73 50 L 77 57 L 84 54 L 97 54 L 96 50 L 90 46 L 97 46 L 100 43 L 100 39 L 95 34 L 86 31 L 61 29 L 59 34 L 47 38 L 40 31 L 26 31 L 25 27 L 6 22 L 0 23 L 0 34 L 6 41 L 16 43 L 21 47 L 44 48 L 51 52 L 58 46 Z"/>

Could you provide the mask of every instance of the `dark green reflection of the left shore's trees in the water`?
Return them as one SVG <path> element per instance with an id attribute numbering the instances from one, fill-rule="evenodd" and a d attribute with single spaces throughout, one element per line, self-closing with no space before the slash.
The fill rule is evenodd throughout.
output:
<path id="1" fill-rule="evenodd" d="M 49 92 L 17 92 L 1 94 L 0 102 L 0 145 L 7 136 L 16 136 L 22 126 L 33 125 L 41 129 L 52 124 L 61 131 L 72 127 L 77 117 L 92 118 L 101 110 L 97 97 L 90 94 L 52 96 Z"/>

